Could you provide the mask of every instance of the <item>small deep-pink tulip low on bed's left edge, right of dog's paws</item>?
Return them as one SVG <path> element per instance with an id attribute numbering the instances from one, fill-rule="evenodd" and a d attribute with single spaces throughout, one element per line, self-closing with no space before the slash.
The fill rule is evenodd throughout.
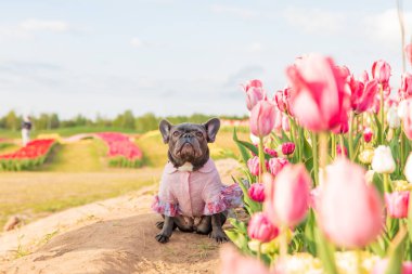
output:
<path id="1" fill-rule="evenodd" d="M 265 212 L 252 216 L 247 224 L 247 234 L 250 238 L 268 243 L 278 237 L 279 229 L 274 226 Z"/>

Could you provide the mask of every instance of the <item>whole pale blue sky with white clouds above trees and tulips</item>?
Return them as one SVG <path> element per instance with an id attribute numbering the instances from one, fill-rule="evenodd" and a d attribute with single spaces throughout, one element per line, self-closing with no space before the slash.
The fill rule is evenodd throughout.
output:
<path id="1" fill-rule="evenodd" d="M 0 14 L 0 115 L 243 115 L 241 83 L 272 94 L 309 52 L 355 74 L 384 58 L 399 86 L 395 0 L 1 0 Z"/>

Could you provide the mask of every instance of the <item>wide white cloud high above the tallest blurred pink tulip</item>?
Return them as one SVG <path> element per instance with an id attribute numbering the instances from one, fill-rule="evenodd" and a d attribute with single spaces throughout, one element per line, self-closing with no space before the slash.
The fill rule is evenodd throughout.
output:
<path id="1" fill-rule="evenodd" d="M 345 27 L 343 13 L 320 9 L 288 8 L 283 17 L 292 25 L 308 34 L 334 34 Z"/>

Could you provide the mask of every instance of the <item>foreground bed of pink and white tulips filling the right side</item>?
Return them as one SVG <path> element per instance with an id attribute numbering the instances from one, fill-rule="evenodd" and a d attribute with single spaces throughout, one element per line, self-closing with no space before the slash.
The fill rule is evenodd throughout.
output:
<path id="1" fill-rule="evenodd" d="M 309 54 L 273 96 L 244 86 L 249 218 L 229 219 L 221 273 L 412 273 L 412 75 L 395 90 L 388 63 L 371 67 Z"/>

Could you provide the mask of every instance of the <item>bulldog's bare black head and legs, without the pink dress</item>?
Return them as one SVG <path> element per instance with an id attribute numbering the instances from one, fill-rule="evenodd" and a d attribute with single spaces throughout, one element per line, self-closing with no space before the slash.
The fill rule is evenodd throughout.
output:
<path id="1" fill-rule="evenodd" d="M 198 171 L 209 160 L 207 144 L 215 142 L 219 128 L 220 120 L 217 118 L 213 118 L 205 123 L 185 122 L 176 126 L 167 120 L 162 120 L 159 130 L 165 144 L 169 145 L 168 165 L 171 164 L 177 170 L 189 171 L 190 173 Z M 159 243 L 167 243 L 176 229 L 182 232 L 209 235 L 217 243 L 228 240 L 222 230 L 222 224 L 227 220 L 227 211 L 202 216 L 198 218 L 197 224 L 195 224 L 193 217 L 182 214 L 176 214 L 175 217 L 163 214 L 163 218 L 164 221 L 156 223 L 156 226 L 162 230 L 156 235 Z"/>

